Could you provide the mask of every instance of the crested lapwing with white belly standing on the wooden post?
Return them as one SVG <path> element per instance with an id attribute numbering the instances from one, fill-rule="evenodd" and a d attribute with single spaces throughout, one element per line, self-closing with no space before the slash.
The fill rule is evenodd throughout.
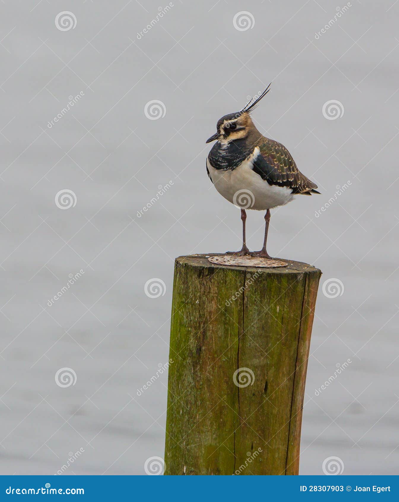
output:
<path id="1" fill-rule="evenodd" d="M 297 168 L 281 143 L 263 136 L 251 112 L 270 91 L 270 85 L 240 111 L 218 120 L 217 132 L 206 143 L 216 141 L 207 157 L 207 173 L 216 190 L 241 209 L 243 247 L 226 254 L 272 259 L 267 250 L 270 209 L 288 204 L 295 195 L 320 194 L 317 185 Z M 250 252 L 245 240 L 246 209 L 266 211 L 265 237 L 258 252 Z"/>

